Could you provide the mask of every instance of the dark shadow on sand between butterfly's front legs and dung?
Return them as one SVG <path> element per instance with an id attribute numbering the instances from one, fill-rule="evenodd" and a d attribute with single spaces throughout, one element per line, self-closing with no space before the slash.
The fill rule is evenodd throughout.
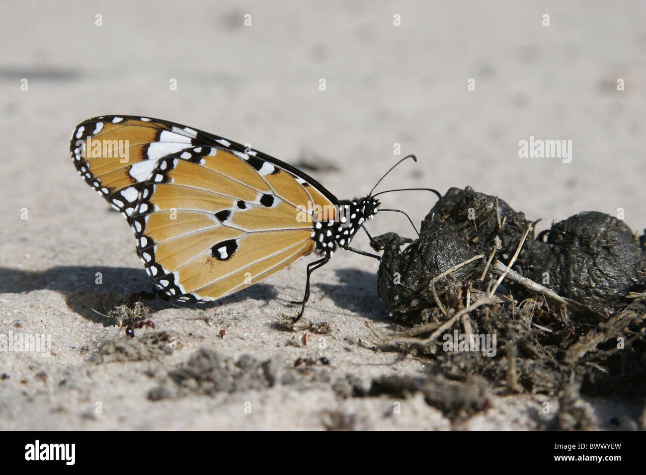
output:
<path id="1" fill-rule="evenodd" d="M 375 322 L 391 322 L 377 297 L 377 275 L 360 269 L 336 269 L 339 284 L 313 284 L 337 306 Z"/>

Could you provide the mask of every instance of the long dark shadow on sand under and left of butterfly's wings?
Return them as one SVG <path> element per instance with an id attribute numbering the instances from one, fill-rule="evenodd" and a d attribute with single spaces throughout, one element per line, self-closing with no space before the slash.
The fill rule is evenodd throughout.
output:
<path id="1" fill-rule="evenodd" d="M 81 317 L 111 326 L 114 319 L 107 313 L 115 305 L 130 303 L 132 293 L 152 292 L 152 283 L 145 271 L 135 268 L 105 266 L 57 266 L 45 271 L 26 271 L 0 268 L 0 293 L 27 293 L 36 290 L 54 290 L 65 296 L 68 307 Z M 222 304 L 246 299 L 272 301 L 278 291 L 267 284 L 255 284 L 216 302 L 187 304 L 179 301 L 148 301 L 151 311 L 165 308 L 214 308 Z M 92 310 L 94 309 L 94 310 Z M 96 310 L 96 311 L 95 311 Z"/>

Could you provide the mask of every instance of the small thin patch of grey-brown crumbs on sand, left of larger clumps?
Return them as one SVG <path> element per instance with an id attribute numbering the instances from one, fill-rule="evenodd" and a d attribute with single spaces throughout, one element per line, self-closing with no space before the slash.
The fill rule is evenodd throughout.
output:
<path id="1" fill-rule="evenodd" d="M 143 333 L 139 337 L 124 335 L 101 344 L 90 357 L 90 361 L 94 363 L 147 361 L 170 355 L 178 347 L 178 338 L 169 332 Z"/>

